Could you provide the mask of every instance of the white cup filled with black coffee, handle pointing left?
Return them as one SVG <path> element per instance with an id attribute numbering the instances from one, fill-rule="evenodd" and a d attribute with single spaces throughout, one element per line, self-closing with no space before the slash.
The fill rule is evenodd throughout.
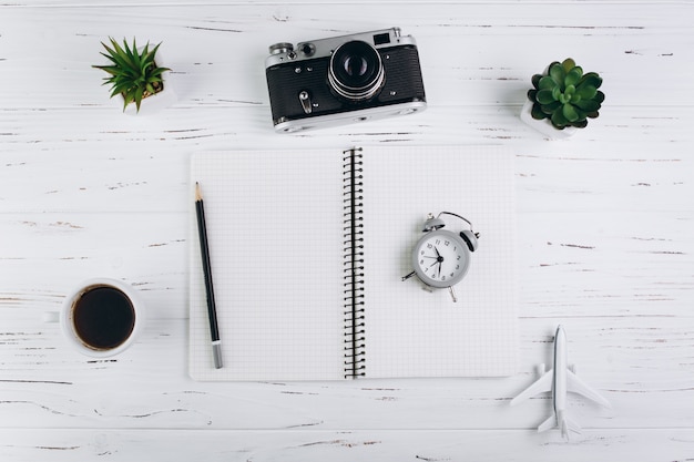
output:
<path id="1" fill-rule="evenodd" d="M 132 285 L 93 278 L 74 288 L 60 311 L 44 320 L 59 321 L 68 342 L 81 353 L 106 358 L 136 340 L 144 326 L 144 305 Z"/>

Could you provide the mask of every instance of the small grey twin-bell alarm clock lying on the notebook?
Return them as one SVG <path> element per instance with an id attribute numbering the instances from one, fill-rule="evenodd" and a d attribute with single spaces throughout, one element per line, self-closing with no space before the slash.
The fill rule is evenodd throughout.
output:
<path id="1" fill-rule="evenodd" d="M 442 229 L 446 224 L 441 215 L 459 218 L 469 229 L 459 233 Z M 453 301 L 458 301 L 453 286 L 470 268 L 471 253 L 477 249 L 479 234 L 472 230 L 472 224 L 467 218 L 451 212 L 441 212 L 436 217 L 429 214 L 422 232 L 426 234 L 412 248 L 414 270 L 402 280 L 417 276 L 429 288 L 448 288 Z"/>

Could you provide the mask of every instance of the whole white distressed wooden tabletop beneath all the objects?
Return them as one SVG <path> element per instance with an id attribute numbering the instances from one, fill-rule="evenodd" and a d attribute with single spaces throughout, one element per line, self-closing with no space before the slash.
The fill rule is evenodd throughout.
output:
<path id="1" fill-rule="evenodd" d="M 0 4 L 0 459 L 7 461 L 683 461 L 694 459 L 694 2 L 16 0 Z M 267 47 L 402 28 L 429 109 L 276 135 Z M 100 41 L 169 58 L 178 102 L 123 115 Z M 570 141 L 519 120 L 530 76 L 574 58 L 604 78 Z M 504 379 L 198 383 L 187 377 L 188 160 L 201 150 L 502 144 L 517 156 L 519 373 Z M 290 232 L 290 230 L 289 230 Z M 93 276 L 149 304 L 122 356 L 42 322 Z M 538 434 L 510 408 L 555 326 L 612 402 Z"/>

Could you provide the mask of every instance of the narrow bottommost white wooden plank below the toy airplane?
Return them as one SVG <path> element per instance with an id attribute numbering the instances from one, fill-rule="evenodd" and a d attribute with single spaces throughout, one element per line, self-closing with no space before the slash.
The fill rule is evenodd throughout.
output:
<path id="1" fill-rule="evenodd" d="M 133 431 L 52 430 L 43 433 L 12 430 L 0 435 L 0 448 L 10 460 L 54 461 L 141 460 L 171 461 L 613 461 L 631 448 L 635 462 L 687 460 L 691 432 L 683 429 L 586 431 L 564 443 L 555 434 L 531 431 Z M 279 456 L 280 455 L 280 456 Z"/>

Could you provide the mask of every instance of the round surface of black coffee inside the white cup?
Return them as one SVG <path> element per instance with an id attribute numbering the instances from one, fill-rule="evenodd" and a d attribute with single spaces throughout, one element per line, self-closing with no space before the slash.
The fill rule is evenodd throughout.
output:
<path id="1" fill-rule="evenodd" d="M 84 345 L 109 350 L 123 343 L 135 327 L 135 310 L 119 289 L 95 286 L 86 289 L 73 306 L 72 322 Z"/>

